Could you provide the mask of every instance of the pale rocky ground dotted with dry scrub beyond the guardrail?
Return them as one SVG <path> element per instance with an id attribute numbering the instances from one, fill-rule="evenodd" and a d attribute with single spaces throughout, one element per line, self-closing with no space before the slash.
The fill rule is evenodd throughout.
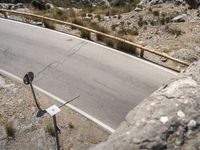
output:
<path id="1" fill-rule="evenodd" d="M 136 43 L 193 62 L 200 58 L 199 19 L 198 11 L 186 4 L 163 3 L 120 14 L 120 19 L 113 15 L 91 20 Z"/>

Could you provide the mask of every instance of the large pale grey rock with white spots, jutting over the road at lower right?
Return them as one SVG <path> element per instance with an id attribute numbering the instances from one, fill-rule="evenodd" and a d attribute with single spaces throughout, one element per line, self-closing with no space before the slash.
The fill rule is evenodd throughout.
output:
<path id="1" fill-rule="evenodd" d="M 126 116 L 94 150 L 200 148 L 200 61 L 171 79 Z"/>

